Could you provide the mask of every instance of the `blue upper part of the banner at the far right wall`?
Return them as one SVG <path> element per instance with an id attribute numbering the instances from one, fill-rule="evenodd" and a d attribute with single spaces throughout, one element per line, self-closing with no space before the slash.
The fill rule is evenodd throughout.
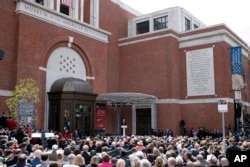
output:
<path id="1" fill-rule="evenodd" d="M 243 75 L 241 46 L 231 47 L 231 71 L 232 74 Z"/>

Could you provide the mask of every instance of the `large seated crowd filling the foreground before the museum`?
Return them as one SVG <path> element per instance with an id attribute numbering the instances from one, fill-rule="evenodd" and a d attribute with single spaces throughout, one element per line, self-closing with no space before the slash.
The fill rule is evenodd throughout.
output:
<path id="1" fill-rule="evenodd" d="M 168 130 L 169 131 L 169 130 Z M 250 149 L 248 135 L 75 137 L 68 129 L 34 138 L 29 126 L 0 129 L 0 164 L 7 167 L 229 167 L 230 151 Z M 202 134 L 202 135 L 201 135 Z M 0 165 L 1 166 L 1 165 Z"/>

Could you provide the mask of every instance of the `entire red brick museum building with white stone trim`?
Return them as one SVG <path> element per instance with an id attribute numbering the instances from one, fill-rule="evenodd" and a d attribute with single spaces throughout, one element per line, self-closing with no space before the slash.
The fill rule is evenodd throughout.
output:
<path id="1" fill-rule="evenodd" d="M 94 134 L 102 106 L 105 134 L 120 133 L 122 120 L 129 134 L 221 130 L 220 98 L 226 126 L 247 121 L 249 47 L 224 24 L 206 26 L 181 7 L 140 15 L 119 0 L 2 0 L 0 8 L 2 112 L 30 77 L 41 91 L 39 128 Z M 244 70 L 232 75 L 236 46 Z"/>

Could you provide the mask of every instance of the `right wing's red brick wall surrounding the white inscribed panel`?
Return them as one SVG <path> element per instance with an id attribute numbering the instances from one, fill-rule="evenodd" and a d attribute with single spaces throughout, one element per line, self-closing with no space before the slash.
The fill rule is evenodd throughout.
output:
<path id="1" fill-rule="evenodd" d="M 221 130 L 222 118 L 218 112 L 217 99 L 224 97 L 231 99 L 229 111 L 225 114 L 225 124 L 234 127 L 235 92 L 232 90 L 230 47 L 243 44 L 243 64 L 248 62 L 248 58 L 244 52 L 245 45 L 237 41 L 237 36 L 216 33 L 218 30 L 230 31 L 226 26 L 180 34 L 162 30 L 119 41 L 122 63 L 120 91 L 132 90 L 158 97 L 158 129 L 172 129 L 175 134 L 180 134 L 179 123 L 184 120 L 189 129 L 205 127 L 208 130 Z M 210 33 L 214 35 L 204 36 Z M 203 38 L 199 41 L 200 36 Z M 186 52 L 205 48 L 213 50 L 215 94 L 189 97 Z M 248 69 L 245 65 L 245 71 Z"/>

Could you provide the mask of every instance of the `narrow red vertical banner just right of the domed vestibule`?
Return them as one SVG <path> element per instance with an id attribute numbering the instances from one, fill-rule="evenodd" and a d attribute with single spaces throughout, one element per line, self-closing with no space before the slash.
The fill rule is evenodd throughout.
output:
<path id="1" fill-rule="evenodd" d="M 105 105 L 96 105 L 96 130 L 105 130 Z"/>

